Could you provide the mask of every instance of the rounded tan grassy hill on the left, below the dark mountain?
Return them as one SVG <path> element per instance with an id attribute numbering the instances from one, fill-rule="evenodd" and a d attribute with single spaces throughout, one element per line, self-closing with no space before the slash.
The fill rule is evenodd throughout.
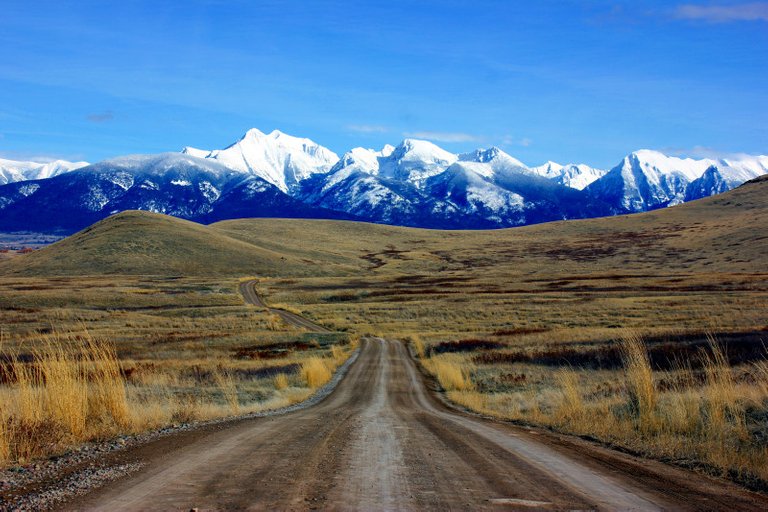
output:
<path id="1" fill-rule="evenodd" d="M 331 267 L 259 247 L 201 224 L 148 212 L 113 215 L 44 249 L 3 262 L 0 274 L 323 275 Z"/>

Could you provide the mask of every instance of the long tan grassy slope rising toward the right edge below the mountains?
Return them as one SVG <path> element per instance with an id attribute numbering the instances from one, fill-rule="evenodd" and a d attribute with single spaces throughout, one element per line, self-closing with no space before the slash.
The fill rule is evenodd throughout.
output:
<path id="1" fill-rule="evenodd" d="M 356 222 L 242 219 L 212 229 L 275 252 L 374 274 L 755 271 L 768 265 L 768 181 L 653 212 L 486 231 Z"/>

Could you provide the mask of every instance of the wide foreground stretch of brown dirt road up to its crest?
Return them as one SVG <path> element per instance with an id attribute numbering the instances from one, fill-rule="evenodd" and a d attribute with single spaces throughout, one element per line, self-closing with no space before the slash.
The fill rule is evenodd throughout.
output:
<path id="1" fill-rule="evenodd" d="M 405 347 L 363 340 L 315 407 L 179 435 L 67 509 L 765 510 L 768 499 L 447 409 Z M 130 454 L 127 455 L 130 458 Z"/>

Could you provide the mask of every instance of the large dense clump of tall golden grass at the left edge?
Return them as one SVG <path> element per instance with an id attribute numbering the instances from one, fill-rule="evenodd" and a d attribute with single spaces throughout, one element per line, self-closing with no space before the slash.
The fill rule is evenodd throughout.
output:
<path id="1" fill-rule="evenodd" d="M 30 357 L 7 357 L 0 456 L 26 461 L 130 425 L 114 349 L 89 335 L 41 338 Z"/>

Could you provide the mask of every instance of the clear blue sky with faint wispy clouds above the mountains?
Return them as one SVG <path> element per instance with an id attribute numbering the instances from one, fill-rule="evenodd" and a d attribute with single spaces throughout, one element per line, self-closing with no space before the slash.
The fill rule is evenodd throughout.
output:
<path id="1" fill-rule="evenodd" d="M 162 4 L 162 5 L 160 5 Z M 404 137 L 610 167 L 768 153 L 768 2 L 29 2 L 0 22 L 0 156 Z"/>

